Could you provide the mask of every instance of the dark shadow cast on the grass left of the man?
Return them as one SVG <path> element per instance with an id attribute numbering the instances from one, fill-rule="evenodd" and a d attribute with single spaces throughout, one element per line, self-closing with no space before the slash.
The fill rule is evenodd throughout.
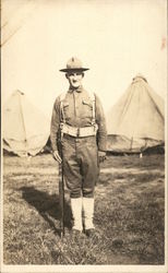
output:
<path id="1" fill-rule="evenodd" d="M 60 229 L 56 227 L 55 222 L 50 218 L 60 219 L 59 195 L 50 195 L 46 191 L 37 190 L 34 187 L 22 187 L 20 190 L 23 199 L 38 211 L 56 234 L 60 235 Z M 70 205 L 64 201 L 64 226 L 68 228 L 71 228 L 71 218 Z"/>

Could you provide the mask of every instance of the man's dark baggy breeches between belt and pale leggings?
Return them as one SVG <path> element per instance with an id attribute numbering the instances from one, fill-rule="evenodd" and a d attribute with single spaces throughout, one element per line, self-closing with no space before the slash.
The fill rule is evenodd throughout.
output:
<path id="1" fill-rule="evenodd" d="M 93 198 L 99 175 L 96 136 L 63 136 L 63 174 L 71 198 Z"/>

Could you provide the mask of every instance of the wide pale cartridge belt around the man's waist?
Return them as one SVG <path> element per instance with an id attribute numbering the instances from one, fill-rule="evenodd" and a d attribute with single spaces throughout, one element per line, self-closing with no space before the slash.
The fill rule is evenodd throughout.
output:
<path id="1" fill-rule="evenodd" d="M 75 136 L 75 138 L 92 136 L 92 135 L 96 135 L 97 124 L 77 128 L 77 127 L 69 126 L 67 123 L 62 123 L 61 132 L 67 133 L 71 136 Z"/>

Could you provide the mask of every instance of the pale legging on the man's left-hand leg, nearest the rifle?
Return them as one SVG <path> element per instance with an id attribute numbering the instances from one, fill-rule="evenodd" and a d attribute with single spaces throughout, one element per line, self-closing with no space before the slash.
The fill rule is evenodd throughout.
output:
<path id="1" fill-rule="evenodd" d="M 74 221 L 72 229 L 82 232 L 82 198 L 71 198 L 71 210 Z"/>

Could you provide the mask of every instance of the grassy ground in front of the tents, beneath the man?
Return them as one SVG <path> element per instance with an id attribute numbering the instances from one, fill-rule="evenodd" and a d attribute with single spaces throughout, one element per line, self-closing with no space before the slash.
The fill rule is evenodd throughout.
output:
<path id="1" fill-rule="evenodd" d="M 59 236 L 58 165 L 50 154 L 3 157 L 4 264 L 164 264 L 165 156 L 108 156 L 95 195 L 96 239 Z"/>

